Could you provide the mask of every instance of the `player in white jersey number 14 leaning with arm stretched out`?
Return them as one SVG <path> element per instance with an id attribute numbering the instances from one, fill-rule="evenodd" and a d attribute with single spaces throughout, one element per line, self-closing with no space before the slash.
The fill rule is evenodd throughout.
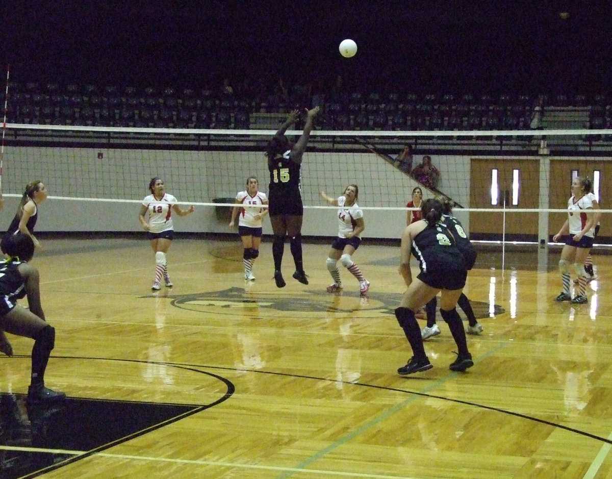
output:
<path id="1" fill-rule="evenodd" d="M 336 293 L 342 289 L 340 271 L 337 267 L 338 260 L 359 281 L 360 294 L 365 295 L 370 289 L 370 282 L 365 279 L 352 257 L 361 243 L 359 235 L 365 230 L 364 212 L 357 205 L 357 197 L 359 197 L 359 187 L 356 184 L 349 184 L 344 194 L 335 199 L 321 191 L 321 198 L 328 205 L 338 206 L 338 237 L 332 243 L 326 262 L 327 270 L 334 279 L 334 284 L 327 287 L 328 293 Z"/>

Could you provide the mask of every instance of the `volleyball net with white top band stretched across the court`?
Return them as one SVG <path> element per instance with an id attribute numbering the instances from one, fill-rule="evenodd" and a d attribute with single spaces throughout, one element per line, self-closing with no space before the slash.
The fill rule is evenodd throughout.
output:
<path id="1" fill-rule="evenodd" d="M 65 213 L 66 230 L 137 230 L 136 203 L 149 194 L 149 180 L 159 176 L 180 203 L 200 208 L 201 221 L 188 228 L 221 232 L 225 225 L 215 213 L 233 203 L 249 176 L 258 177 L 259 189 L 267 192 L 264 151 L 272 135 L 274 130 L 9 124 L 3 194 L 21 197 L 26 183 L 40 179 L 50 200 L 58 202 L 53 214 Z M 302 164 L 304 235 L 334 236 L 335 224 L 324 219 L 333 221 L 334 214 L 324 211 L 331 207 L 319 192 L 339 196 L 346 185 L 357 184 L 358 203 L 370 210 L 370 237 L 398 238 L 406 203 L 420 187 L 424 198 L 442 194 L 455 201 L 455 214 L 469 225 L 472 238 L 541 243 L 567 217 L 573 178 L 588 176 L 598 198 L 600 190 L 609 190 L 611 135 L 611 130 L 313 131 Z M 405 145 L 412 148 L 411 165 L 398 159 Z M 424 156 L 431 157 L 437 178 L 414 174 Z M 603 215 L 610 213 L 605 198 L 600 205 Z M 109 222 L 105 211 L 119 217 Z M 62 230 L 59 219 L 51 224 L 51 230 Z M 602 219 L 602 237 L 612 236 L 607 224 Z"/>

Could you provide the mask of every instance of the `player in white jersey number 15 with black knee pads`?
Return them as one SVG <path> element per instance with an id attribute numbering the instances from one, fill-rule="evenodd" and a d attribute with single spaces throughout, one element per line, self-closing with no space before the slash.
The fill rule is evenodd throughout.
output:
<path id="1" fill-rule="evenodd" d="M 231 212 L 230 228 L 234 227 L 238 216 L 238 234 L 242 240 L 242 262 L 245 281 L 253 281 L 253 262 L 259 256 L 261 243 L 261 220 L 268 214 L 267 197 L 258 191 L 259 181 L 255 176 L 247 178 L 247 189 L 236 195 L 236 206 Z M 238 206 L 240 205 L 240 206 Z"/>

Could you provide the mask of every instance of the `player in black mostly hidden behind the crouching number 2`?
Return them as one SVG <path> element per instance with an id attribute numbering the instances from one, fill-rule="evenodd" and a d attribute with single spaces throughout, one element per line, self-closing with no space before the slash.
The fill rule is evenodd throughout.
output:
<path id="1" fill-rule="evenodd" d="M 444 207 L 444 214 L 442 215 L 441 222 L 446 225 L 455 240 L 457 240 L 457 247 L 461 253 L 463 253 L 463 257 L 466 261 L 466 267 L 468 270 L 471 270 L 472 266 L 474 266 L 474 263 L 476 262 L 477 252 L 472 243 L 470 243 L 468 235 L 463 229 L 461 222 L 452 216 L 453 206 L 455 203 L 450 200 L 450 198 L 441 195 L 436 196 L 436 200 L 441 202 L 442 206 Z M 431 336 L 437 336 L 440 334 L 440 329 L 436 324 L 436 304 L 437 302 L 435 297 L 431 298 L 431 300 L 425 304 L 425 311 L 427 312 L 427 326 L 421 330 L 421 336 L 424 340 L 431 338 Z M 468 318 L 466 333 L 482 333 L 484 328 L 476 320 L 476 315 L 474 315 L 474 310 L 472 309 L 472 305 L 469 303 L 468 296 L 461 293 L 461 296 L 459 296 L 459 299 L 457 300 L 457 304 Z"/>

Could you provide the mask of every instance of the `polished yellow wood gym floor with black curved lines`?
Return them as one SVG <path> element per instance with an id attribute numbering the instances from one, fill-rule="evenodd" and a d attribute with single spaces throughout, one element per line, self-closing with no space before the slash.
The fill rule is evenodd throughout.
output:
<path id="1" fill-rule="evenodd" d="M 595 253 L 589 303 L 572 306 L 553 301 L 558 251 L 481 253 L 465 289 L 485 328 L 468 336 L 474 367 L 449 371 L 455 345 L 439 319 L 426 342 L 435 367 L 400 377 L 411 353 L 392 314 L 404 290 L 397 247 L 364 241 L 354 256 L 367 298 L 343 268 L 343 293 L 325 292 L 327 244 L 304 247 L 309 285 L 291 278 L 287 244 L 277 289 L 269 241 L 247 283 L 238 241 L 177 238 L 174 287 L 157 293 L 146 240 L 43 247 L 33 263 L 57 330 L 47 385 L 70 401 L 187 412 L 86 450 L 39 441 L 37 454 L 65 460 L 24 477 L 612 477 L 608 255 Z M 19 399 L 32 341 L 10 340 L 17 356 L 0 358 L 0 391 Z M 29 448 L 5 435 L 0 451 Z"/>

